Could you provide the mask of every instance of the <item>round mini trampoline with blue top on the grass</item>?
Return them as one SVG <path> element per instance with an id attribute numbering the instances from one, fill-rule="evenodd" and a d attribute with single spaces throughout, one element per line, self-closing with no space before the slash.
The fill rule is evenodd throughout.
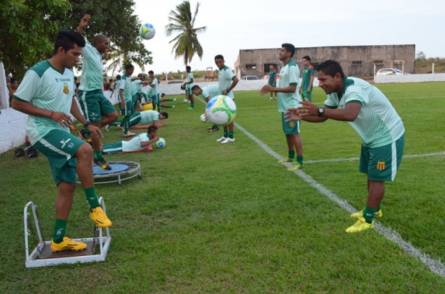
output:
<path id="1" fill-rule="evenodd" d="M 125 162 L 116 161 L 108 162 L 111 166 L 111 171 L 106 171 L 97 165 L 92 166 L 92 175 L 95 179 L 95 184 L 109 184 L 109 183 L 119 183 L 121 184 L 124 180 L 129 180 L 131 178 L 141 178 L 140 165 L 137 162 Z M 78 183 L 80 183 L 78 181 Z"/>

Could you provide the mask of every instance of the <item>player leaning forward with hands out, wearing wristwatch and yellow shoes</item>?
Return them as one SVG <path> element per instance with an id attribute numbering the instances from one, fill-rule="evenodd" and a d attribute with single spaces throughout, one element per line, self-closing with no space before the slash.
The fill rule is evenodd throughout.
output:
<path id="1" fill-rule="evenodd" d="M 323 107 L 310 101 L 286 110 L 286 118 L 312 123 L 334 119 L 348 121 L 362 139 L 359 171 L 366 173 L 368 200 L 362 211 L 352 214 L 357 222 L 346 232 L 354 233 L 374 227 L 373 218 L 381 217 L 380 203 L 385 182 L 394 180 L 405 146 L 405 128 L 388 98 L 379 89 L 359 78 L 343 74 L 334 60 L 321 62 L 316 68 L 318 85 L 327 94 Z"/>

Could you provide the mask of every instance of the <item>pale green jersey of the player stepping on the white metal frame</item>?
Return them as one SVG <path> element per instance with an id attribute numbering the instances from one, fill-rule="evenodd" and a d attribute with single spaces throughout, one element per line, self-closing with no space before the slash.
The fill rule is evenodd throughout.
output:
<path id="1" fill-rule="evenodd" d="M 14 96 L 35 107 L 70 114 L 74 96 L 74 73 L 72 69 L 58 71 L 51 66 L 49 60 L 43 60 L 26 71 Z M 63 128 L 47 116 L 28 115 L 26 134 L 31 144 L 35 144 L 54 129 L 70 132 L 69 128 Z"/>

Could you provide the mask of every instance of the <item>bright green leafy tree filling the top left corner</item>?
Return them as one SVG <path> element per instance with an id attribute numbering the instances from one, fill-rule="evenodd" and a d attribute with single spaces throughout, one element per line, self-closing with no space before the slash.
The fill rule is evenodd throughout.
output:
<path id="1" fill-rule="evenodd" d="M 70 9 L 66 0 L 3 0 L 0 12 L 0 60 L 7 74 L 22 78 L 35 62 L 50 56 L 59 26 L 49 21 Z"/>

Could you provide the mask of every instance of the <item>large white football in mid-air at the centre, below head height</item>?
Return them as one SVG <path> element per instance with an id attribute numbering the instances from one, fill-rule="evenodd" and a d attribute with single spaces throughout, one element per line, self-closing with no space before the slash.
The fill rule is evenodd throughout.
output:
<path id="1" fill-rule="evenodd" d="M 232 98 L 228 96 L 215 96 L 207 103 L 206 116 L 212 123 L 218 126 L 226 126 L 235 119 L 236 105 Z"/>

